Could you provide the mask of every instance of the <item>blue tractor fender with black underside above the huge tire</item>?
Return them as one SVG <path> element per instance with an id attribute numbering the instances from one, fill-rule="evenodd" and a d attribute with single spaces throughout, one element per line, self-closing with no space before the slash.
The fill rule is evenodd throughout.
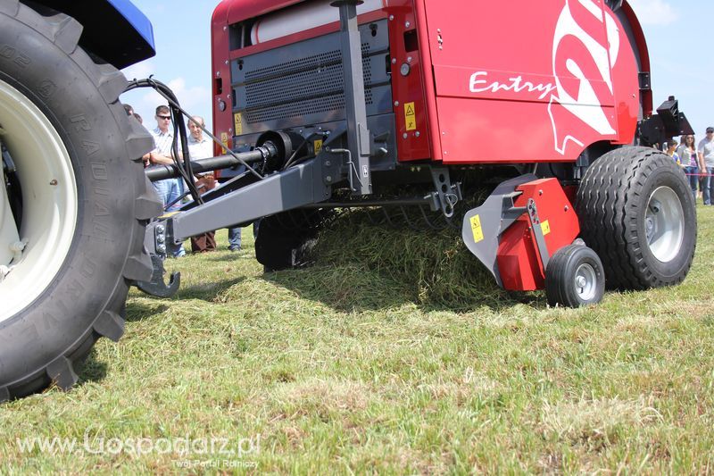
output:
<path id="1" fill-rule="evenodd" d="M 34 0 L 31 4 L 66 13 L 84 27 L 79 46 L 121 69 L 156 54 L 154 27 L 129 0 Z"/>

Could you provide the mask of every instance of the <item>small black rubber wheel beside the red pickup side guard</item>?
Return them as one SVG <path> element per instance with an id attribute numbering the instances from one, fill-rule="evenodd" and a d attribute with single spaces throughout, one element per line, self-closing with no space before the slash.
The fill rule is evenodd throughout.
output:
<path id="1" fill-rule="evenodd" d="M 563 246 L 552 255 L 545 270 L 545 296 L 549 305 L 594 305 L 605 294 L 605 271 L 593 249 Z"/>

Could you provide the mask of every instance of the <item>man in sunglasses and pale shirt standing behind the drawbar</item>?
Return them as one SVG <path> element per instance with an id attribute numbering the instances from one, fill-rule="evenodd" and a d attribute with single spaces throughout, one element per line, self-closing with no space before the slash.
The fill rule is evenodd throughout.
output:
<path id="1" fill-rule="evenodd" d="M 160 105 L 156 108 L 156 129 L 151 130 L 151 135 L 154 136 L 154 144 L 156 148 L 149 154 L 149 167 L 152 168 L 157 164 L 173 163 L 171 158 L 171 145 L 173 144 L 173 130 L 171 125 L 171 113 L 169 106 Z M 179 179 L 157 180 L 153 182 L 156 194 L 161 197 L 163 208 L 167 212 L 178 210 L 181 206 L 179 197 L 183 195 L 183 182 Z M 174 203 L 175 202 L 175 203 Z M 176 258 L 186 255 L 184 246 L 181 245 L 177 249 L 171 249 L 170 255 Z"/>

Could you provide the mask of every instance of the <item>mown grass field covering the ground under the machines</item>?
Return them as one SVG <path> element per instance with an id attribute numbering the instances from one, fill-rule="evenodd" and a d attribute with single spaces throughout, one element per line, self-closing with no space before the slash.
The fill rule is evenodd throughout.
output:
<path id="1" fill-rule="evenodd" d="M 312 268 L 263 275 L 244 230 L 238 254 L 170 262 L 175 298 L 132 291 L 77 388 L 0 406 L 0 472 L 711 472 L 714 209 L 699 218 L 683 285 L 578 310 L 503 293 L 454 238 L 343 230 Z M 79 449 L 21 451 L 34 437 Z"/>

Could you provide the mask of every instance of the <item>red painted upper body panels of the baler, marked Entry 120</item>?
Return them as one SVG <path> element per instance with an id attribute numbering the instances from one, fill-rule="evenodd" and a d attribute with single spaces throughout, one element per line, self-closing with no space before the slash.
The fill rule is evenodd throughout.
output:
<path id="1" fill-rule="evenodd" d="M 224 0 L 212 20 L 213 123 L 236 132 L 230 61 L 339 29 L 338 21 L 261 41 L 261 19 L 308 10 L 311 0 Z M 497 19 L 504 18 L 507 24 Z M 573 162 L 587 146 L 629 144 L 652 113 L 642 30 L 627 3 L 602 0 L 443 2 L 379 0 L 362 13 L 388 18 L 398 160 L 446 164 Z M 233 25 L 256 19 L 255 44 L 231 49 Z M 317 21 L 320 23 L 320 21 Z M 403 68 L 409 73 L 402 74 Z"/>

